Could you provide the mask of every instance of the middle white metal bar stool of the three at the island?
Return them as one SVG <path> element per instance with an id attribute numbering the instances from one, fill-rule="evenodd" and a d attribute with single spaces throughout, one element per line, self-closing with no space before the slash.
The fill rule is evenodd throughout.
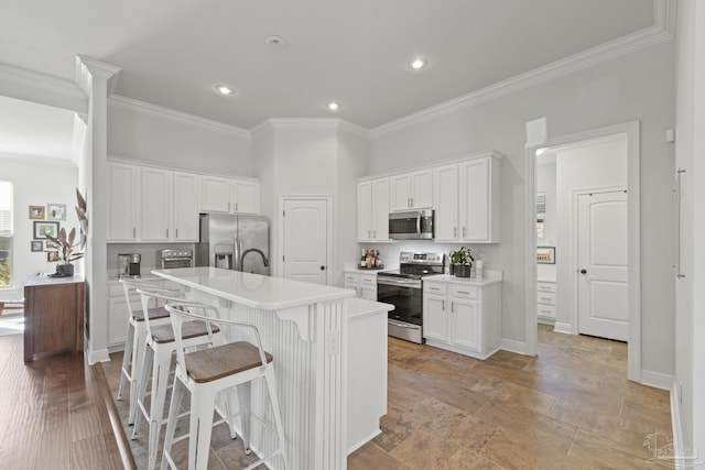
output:
<path id="1" fill-rule="evenodd" d="M 177 298 L 164 294 L 163 289 L 152 289 L 139 287 L 137 292 L 140 294 L 142 302 L 142 310 L 149 310 L 150 300 L 154 302 L 178 302 L 185 305 L 189 303 L 183 298 Z M 169 387 L 169 375 L 171 372 L 172 356 L 176 351 L 176 341 L 174 340 L 174 331 L 172 325 L 151 325 L 150 318 L 144 318 L 147 329 L 144 340 L 144 353 L 142 354 L 141 376 L 139 379 L 139 389 L 137 395 L 138 413 L 134 418 L 134 428 L 132 429 L 132 439 L 137 439 L 140 430 L 140 422 L 142 415 L 149 423 L 149 463 L 148 469 L 152 470 L 156 464 L 156 453 L 159 450 L 159 438 L 164 424 L 164 403 L 166 401 L 166 390 Z M 188 321 L 183 326 L 183 339 L 181 347 L 195 349 L 198 346 L 206 346 L 213 341 L 218 341 L 220 330 L 204 321 Z M 150 393 L 150 407 L 144 405 L 147 396 L 147 383 L 149 382 L 150 372 L 152 374 L 152 390 Z"/>

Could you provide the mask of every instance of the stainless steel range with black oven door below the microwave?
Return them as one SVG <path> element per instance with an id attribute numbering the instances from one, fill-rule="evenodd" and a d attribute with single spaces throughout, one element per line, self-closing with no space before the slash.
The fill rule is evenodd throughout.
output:
<path id="1" fill-rule="evenodd" d="M 443 253 L 399 254 L 399 270 L 377 274 L 377 299 L 394 305 L 389 313 L 389 336 L 417 343 L 423 339 L 423 289 L 422 278 L 443 274 Z"/>

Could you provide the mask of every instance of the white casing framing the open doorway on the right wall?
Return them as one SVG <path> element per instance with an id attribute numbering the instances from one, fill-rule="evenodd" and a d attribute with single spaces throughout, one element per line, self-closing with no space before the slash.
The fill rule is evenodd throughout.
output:
<path id="1" fill-rule="evenodd" d="M 573 142 L 598 139 L 612 134 L 627 135 L 627 190 L 628 237 L 629 237 L 629 342 L 627 347 L 627 378 L 641 382 L 641 228 L 639 189 L 639 121 L 625 122 L 575 134 L 549 139 L 544 143 L 527 144 L 524 157 L 524 278 L 525 284 L 525 353 L 538 352 L 536 331 L 536 150 L 566 145 Z"/>

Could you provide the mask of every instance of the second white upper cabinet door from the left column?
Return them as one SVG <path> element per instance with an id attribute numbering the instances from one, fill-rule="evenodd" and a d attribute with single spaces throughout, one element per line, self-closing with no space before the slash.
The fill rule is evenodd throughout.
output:
<path id="1" fill-rule="evenodd" d="M 172 172 L 142 168 L 141 240 L 169 241 L 172 214 Z"/>

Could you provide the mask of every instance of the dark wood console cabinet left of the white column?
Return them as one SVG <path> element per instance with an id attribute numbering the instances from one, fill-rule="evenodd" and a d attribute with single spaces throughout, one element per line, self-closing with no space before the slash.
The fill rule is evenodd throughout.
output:
<path id="1" fill-rule="evenodd" d="M 32 276 L 24 284 L 24 362 L 34 354 L 84 349 L 84 280 Z"/>

